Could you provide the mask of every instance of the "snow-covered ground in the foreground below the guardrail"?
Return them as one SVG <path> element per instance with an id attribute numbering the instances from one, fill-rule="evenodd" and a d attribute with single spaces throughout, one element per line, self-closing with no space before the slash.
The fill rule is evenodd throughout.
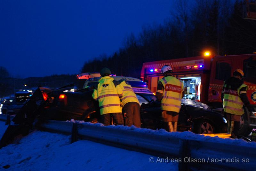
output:
<path id="1" fill-rule="evenodd" d="M 178 170 L 178 163 L 150 163 L 150 157 L 86 140 L 70 144 L 70 136 L 34 131 L 0 149 L 0 170 Z"/>

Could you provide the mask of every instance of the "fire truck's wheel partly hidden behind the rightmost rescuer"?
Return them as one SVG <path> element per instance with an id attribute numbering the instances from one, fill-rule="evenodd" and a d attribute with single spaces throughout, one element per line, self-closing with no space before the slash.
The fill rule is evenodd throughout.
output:
<path id="1" fill-rule="evenodd" d="M 240 129 L 238 131 L 238 135 L 241 136 L 248 136 L 252 132 L 252 128 L 250 128 L 250 123 L 248 122 L 248 110 L 247 108 L 244 108 L 244 114 L 241 115 L 240 120 Z"/>

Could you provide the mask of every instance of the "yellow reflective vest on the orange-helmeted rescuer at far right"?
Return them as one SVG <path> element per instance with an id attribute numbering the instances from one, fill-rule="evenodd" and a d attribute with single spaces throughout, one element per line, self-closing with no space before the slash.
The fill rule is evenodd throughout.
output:
<path id="1" fill-rule="evenodd" d="M 224 98 L 223 98 L 224 112 L 235 114 L 235 115 L 244 114 L 243 102 L 239 97 L 240 89 L 243 87 L 247 87 L 247 85 L 242 84 L 237 90 L 232 90 L 230 89 L 230 86 L 227 87 L 227 84 L 224 82 Z"/>

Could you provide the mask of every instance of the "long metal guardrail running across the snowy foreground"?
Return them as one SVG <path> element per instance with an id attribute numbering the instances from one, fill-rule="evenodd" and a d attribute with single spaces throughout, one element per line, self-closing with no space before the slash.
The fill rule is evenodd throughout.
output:
<path id="1" fill-rule="evenodd" d="M 0 115 L 0 120 L 1 118 L 4 116 Z M 156 157 L 181 159 L 179 170 L 254 170 L 256 165 L 256 147 L 56 120 L 42 123 L 40 129 L 72 135 L 73 142 L 78 136 L 81 139 L 143 152 Z M 248 159 L 249 162 L 243 162 L 241 158 Z M 241 162 L 237 162 L 237 159 Z"/>

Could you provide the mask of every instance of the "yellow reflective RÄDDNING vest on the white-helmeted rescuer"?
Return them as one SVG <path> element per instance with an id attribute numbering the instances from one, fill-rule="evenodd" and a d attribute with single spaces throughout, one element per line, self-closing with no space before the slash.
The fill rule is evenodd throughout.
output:
<path id="1" fill-rule="evenodd" d="M 173 76 L 159 80 L 164 86 L 161 108 L 164 111 L 180 112 L 183 83 Z"/>

